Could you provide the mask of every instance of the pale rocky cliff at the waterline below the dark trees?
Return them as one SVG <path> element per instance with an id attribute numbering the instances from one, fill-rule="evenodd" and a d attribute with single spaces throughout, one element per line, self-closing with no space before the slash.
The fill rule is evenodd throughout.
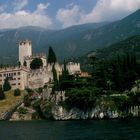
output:
<path id="1" fill-rule="evenodd" d="M 140 107 L 130 107 L 128 111 L 104 110 L 102 107 L 95 107 L 89 111 L 82 111 L 78 108 L 72 108 L 69 111 L 62 106 L 55 106 L 52 108 L 52 116 L 54 120 L 78 120 L 78 119 L 104 119 L 104 118 L 125 118 L 125 117 L 139 117 Z"/>

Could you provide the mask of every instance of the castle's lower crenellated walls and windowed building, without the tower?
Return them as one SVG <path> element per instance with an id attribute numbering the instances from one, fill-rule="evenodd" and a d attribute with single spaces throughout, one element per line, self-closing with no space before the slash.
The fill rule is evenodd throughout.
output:
<path id="1" fill-rule="evenodd" d="M 28 59 L 30 60 L 30 59 Z M 30 62 L 27 65 L 29 65 Z M 28 66 L 27 66 L 28 67 Z M 52 67 L 53 65 L 48 65 L 37 70 L 31 70 L 27 67 L 15 67 L 15 68 L 5 68 L 0 70 L 0 85 L 3 86 L 4 80 L 8 77 L 12 89 L 25 89 L 28 88 L 39 88 L 43 87 L 46 83 L 53 80 Z M 62 74 L 62 65 L 59 63 L 55 64 L 55 69 L 57 76 Z M 75 74 L 80 72 L 80 64 L 69 63 L 67 65 L 70 74 Z"/>

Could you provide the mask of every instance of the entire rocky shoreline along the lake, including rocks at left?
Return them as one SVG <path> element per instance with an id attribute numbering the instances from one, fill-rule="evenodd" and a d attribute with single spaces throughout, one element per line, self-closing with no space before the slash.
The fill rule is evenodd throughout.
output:
<path id="1" fill-rule="evenodd" d="M 23 107 L 21 105 L 20 107 Z M 20 108 L 18 107 L 18 108 Z M 10 121 L 22 121 L 22 120 L 40 120 L 41 118 L 36 116 L 36 111 L 31 108 L 27 108 L 25 114 L 15 111 L 10 118 Z M 17 109 L 18 110 L 18 109 Z M 130 107 L 127 112 L 112 111 L 110 109 L 104 110 L 103 108 L 97 106 L 89 111 L 82 111 L 78 108 L 72 108 L 66 110 L 62 106 L 54 106 L 50 113 L 43 113 L 45 119 L 53 119 L 57 121 L 61 120 L 86 120 L 86 119 L 119 119 L 119 118 L 134 118 L 140 116 L 140 107 L 134 106 Z"/>

